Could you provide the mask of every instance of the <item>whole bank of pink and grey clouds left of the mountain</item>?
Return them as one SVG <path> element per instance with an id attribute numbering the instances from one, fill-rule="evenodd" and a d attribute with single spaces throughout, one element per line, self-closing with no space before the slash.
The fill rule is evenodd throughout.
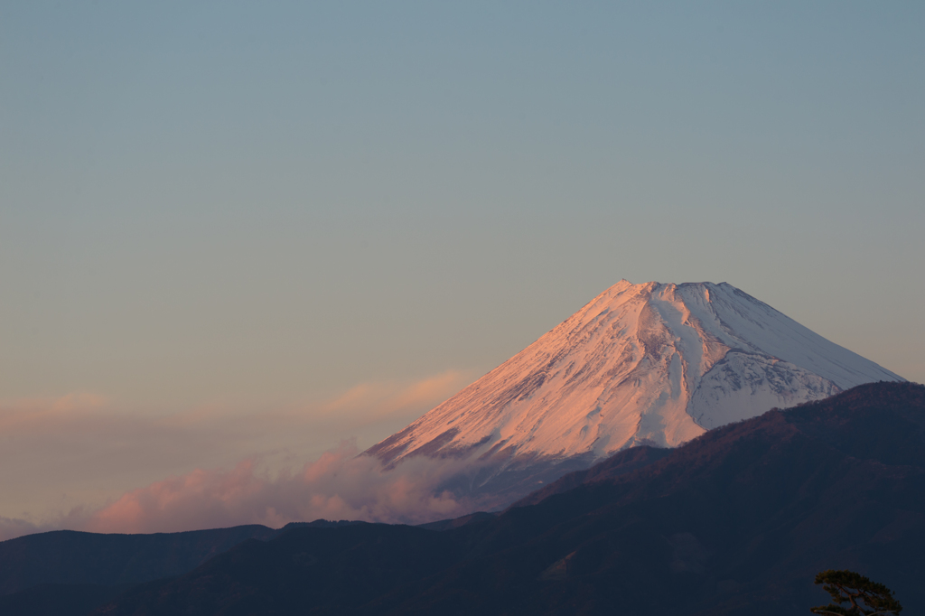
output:
<path id="1" fill-rule="evenodd" d="M 340 435 L 387 437 L 473 377 L 448 371 L 365 383 L 331 400 L 263 413 L 200 408 L 146 416 L 91 394 L 0 402 L 0 484 L 8 487 L 0 540 L 60 528 L 149 533 L 318 518 L 415 524 L 456 515 L 468 504 L 440 485 L 460 462 L 416 460 L 387 472 L 358 457 L 355 439 L 302 461 Z"/>

